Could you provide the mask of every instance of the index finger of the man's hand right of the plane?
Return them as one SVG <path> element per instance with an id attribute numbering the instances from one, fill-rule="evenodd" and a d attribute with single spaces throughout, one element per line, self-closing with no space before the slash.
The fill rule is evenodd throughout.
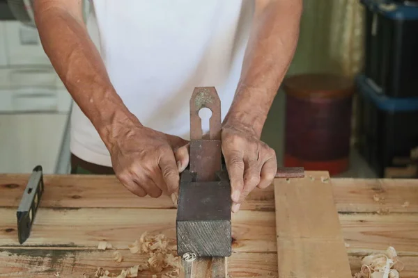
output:
<path id="1" fill-rule="evenodd" d="M 228 170 L 231 182 L 232 202 L 239 202 L 242 189 L 244 188 L 244 160 L 242 153 L 235 151 L 232 153 L 224 152 L 226 169 Z"/>

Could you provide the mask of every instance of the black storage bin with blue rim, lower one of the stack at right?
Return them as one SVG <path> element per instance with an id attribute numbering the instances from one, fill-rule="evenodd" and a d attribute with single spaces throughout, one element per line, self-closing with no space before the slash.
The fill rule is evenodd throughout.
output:
<path id="1" fill-rule="evenodd" d="M 418 97 L 387 97 L 364 75 L 356 78 L 360 154 L 383 177 L 395 157 L 409 156 L 418 146 Z"/>

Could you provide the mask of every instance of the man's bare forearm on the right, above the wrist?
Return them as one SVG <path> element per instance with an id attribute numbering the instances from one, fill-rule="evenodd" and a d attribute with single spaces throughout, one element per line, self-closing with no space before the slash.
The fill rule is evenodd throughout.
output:
<path id="1" fill-rule="evenodd" d="M 238 88 L 224 125 L 251 126 L 258 138 L 295 53 L 302 0 L 256 1 Z"/>

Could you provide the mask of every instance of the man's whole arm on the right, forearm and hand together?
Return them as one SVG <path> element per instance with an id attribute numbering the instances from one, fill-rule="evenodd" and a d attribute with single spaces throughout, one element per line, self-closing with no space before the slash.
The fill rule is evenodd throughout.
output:
<path id="1" fill-rule="evenodd" d="M 295 53 L 301 15 L 302 0 L 256 1 L 240 82 L 222 129 L 235 212 L 256 186 L 269 186 L 277 171 L 274 150 L 260 137 Z"/>

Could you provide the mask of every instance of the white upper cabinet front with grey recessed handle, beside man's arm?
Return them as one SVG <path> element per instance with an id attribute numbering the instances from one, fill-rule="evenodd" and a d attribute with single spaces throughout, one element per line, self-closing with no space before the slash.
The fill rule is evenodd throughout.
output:
<path id="1" fill-rule="evenodd" d="M 6 25 L 6 55 L 9 65 L 51 65 L 40 44 L 36 28 L 17 21 L 3 22 Z"/>

